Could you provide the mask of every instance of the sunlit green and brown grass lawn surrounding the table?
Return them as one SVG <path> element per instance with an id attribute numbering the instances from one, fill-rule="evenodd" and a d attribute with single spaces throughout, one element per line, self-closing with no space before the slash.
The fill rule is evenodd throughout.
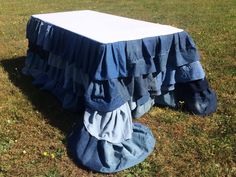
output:
<path id="1" fill-rule="evenodd" d="M 234 0 L 0 0 L 0 176 L 103 176 L 68 157 L 65 140 L 74 115 L 20 72 L 30 15 L 79 9 L 185 29 L 218 96 L 217 112 L 204 118 L 152 108 L 138 121 L 152 129 L 154 152 L 133 168 L 105 176 L 236 176 Z"/>

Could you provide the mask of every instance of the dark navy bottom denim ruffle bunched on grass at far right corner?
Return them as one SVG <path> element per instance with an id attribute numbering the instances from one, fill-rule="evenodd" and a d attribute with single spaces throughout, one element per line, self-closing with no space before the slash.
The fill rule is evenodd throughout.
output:
<path id="1" fill-rule="evenodd" d="M 180 105 L 180 102 L 182 104 Z M 177 83 L 175 90 L 155 98 L 157 105 L 183 107 L 197 115 L 209 115 L 216 111 L 217 97 L 206 78 L 187 83 Z"/>

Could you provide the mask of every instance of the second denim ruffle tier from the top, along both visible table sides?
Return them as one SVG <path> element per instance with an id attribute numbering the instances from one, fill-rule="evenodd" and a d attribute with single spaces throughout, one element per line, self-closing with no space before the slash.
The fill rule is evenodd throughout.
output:
<path id="1" fill-rule="evenodd" d="M 132 97 L 141 106 L 150 96 L 174 90 L 176 83 L 202 79 L 205 73 L 199 61 L 183 65 L 174 70 L 150 73 L 139 77 L 116 78 L 104 81 L 91 80 L 89 75 L 69 64 L 62 57 L 49 53 L 48 58 L 28 51 L 23 72 L 34 77 L 34 84 L 42 89 L 54 90 L 65 102 L 65 107 L 78 105 L 81 98 L 85 106 L 102 112 L 110 112 Z M 60 88 L 61 87 L 61 88 Z M 61 89 L 61 90 L 60 90 Z M 53 91 L 54 92 L 54 91 Z M 66 96 L 62 96 L 65 93 Z M 74 100 L 73 100 L 74 99 Z M 75 108 L 73 108 L 75 109 Z"/>

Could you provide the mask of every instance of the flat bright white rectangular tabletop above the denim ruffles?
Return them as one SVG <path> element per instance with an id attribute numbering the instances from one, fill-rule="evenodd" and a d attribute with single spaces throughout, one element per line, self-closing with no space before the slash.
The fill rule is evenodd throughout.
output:
<path id="1" fill-rule="evenodd" d="M 38 14 L 33 17 L 100 43 L 143 39 L 183 31 L 168 25 L 91 10 Z"/>

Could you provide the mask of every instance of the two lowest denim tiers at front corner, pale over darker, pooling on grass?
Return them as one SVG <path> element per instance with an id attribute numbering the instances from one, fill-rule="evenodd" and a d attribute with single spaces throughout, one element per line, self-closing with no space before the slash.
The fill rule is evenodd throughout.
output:
<path id="1" fill-rule="evenodd" d="M 127 105 L 109 113 L 91 110 L 85 113 L 84 124 L 78 123 L 68 137 L 69 152 L 77 163 L 94 171 L 112 173 L 147 158 L 154 149 L 155 138 L 149 128 L 132 123 Z"/>

